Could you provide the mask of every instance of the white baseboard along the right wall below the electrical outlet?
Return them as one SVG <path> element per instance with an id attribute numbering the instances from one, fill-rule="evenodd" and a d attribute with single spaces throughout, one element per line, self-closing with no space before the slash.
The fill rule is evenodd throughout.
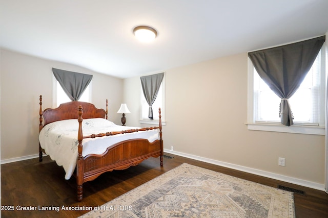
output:
<path id="1" fill-rule="evenodd" d="M 187 157 L 187 158 L 194 159 L 194 160 L 199 160 L 199 161 L 206 162 L 206 163 L 215 164 L 215 165 L 218 165 L 218 166 L 224 166 L 224 167 L 228 167 L 228 168 L 231 168 L 231 169 L 236 169 L 238 171 L 251 173 L 251 174 L 258 175 L 258 176 L 264 176 L 264 177 L 268 177 L 268 178 L 271 178 L 271 179 L 276 179 L 276 180 L 280 180 L 280 181 L 284 181 L 284 182 L 293 183 L 293 184 L 296 184 L 296 185 L 301 185 L 301 186 L 305 186 L 305 187 L 325 191 L 324 184 L 320 184 L 320 183 L 315 183 L 315 182 L 306 181 L 306 180 L 302 180 L 302 179 L 297 179 L 297 178 L 293 178 L 293 177 L 283 176 L 283 175 L 280 175 L 280 174 L 261 171 L 259 169 L 255 169 L 255 168 L 240 166 L 240 165 L 227 163 L 227 162 L 222 162 L 222 161 L 218 161 L 218 160 L 212 160 L 212 159 L 209 159 L 209 158 L 204 158 L 204 157 L 199 157 L 199 156 L 196 156 L 196 155 L 185 154 L 185 153 L 176 152 L 176 151 L 172 151 L 172 150 L 168 150 L 168 149 L 164 149 L 164 152 L 170 153 L 170 154 L 175 154 L 175 155 L 182 156 L 182 157 Z"/>

